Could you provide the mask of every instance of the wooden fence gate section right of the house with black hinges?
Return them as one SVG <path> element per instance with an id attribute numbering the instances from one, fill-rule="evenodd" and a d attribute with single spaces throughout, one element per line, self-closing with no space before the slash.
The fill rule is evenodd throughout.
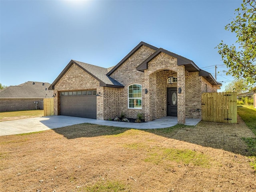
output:
<path id="1" fill-rule="evenodd" d="M 202 120 L 237 123 L 236 92 L 203 93 Z"/>

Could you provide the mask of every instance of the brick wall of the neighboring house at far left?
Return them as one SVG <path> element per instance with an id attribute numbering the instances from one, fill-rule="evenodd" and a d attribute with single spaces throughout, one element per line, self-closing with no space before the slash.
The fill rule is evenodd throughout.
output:
<path id="1" fill-rule="evenodd" d="M 39 105 L 40 102 L 44 102 L 42 98 L 13 98 L 13 99 L 0 99 L 0 112 L 8 111 L 22 111 L 22 110 L 36 110 L 36 104 L 38 102 L 37 109 L 42 110 Z"/>

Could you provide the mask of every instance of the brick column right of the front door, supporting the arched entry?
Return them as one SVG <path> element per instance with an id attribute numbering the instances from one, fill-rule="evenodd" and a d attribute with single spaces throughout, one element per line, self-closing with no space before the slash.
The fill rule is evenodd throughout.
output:
<path id="1" fill-rule="evenodd" d="M 178 102 L 178 123 L 185 124 L 185 66 L 179 66 L 177 71 L 177 102 Z M 181 93 L 179 93 L 181 88 Z"/>

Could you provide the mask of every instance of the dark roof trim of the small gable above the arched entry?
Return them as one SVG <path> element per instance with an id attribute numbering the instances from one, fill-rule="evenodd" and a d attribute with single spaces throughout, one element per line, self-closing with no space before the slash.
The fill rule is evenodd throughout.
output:
<path id="1" fill-rule="evenodd" d="M 177 55 L 177 54 L 170 52 L 168 50 L 165 50 L 163 48 L 159 48 L 158 50 L 156 50 L 156 52 L 154 52 L 150 57 L 148 57 L 144 62 L 142 62 L 136 69 L 138 71 L 144 72 L 144 70 L 148 69 L 148 62 L 150 62 L 152 59 L 154 59 L 156 56 L 158 56 L 158 54 L 160 54 L 161 52 L 177 58 L 178 66 L 184 65 L 185 69 L 188 72 L 200 71 L 200 68 L 198 66 L 196 66 L 196 64 L 192 60 L 189 60 L 185 57 Z"/>

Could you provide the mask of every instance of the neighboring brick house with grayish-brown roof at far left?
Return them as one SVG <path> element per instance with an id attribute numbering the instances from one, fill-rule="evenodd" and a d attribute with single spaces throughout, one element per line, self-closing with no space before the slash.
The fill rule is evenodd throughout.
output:
<path id="1" fill-rule="evenodd" d="M 51 98 L 50 83 L 28 81 L 0 90 L 0 112 L 44 109 L 44 98 Z"/>

